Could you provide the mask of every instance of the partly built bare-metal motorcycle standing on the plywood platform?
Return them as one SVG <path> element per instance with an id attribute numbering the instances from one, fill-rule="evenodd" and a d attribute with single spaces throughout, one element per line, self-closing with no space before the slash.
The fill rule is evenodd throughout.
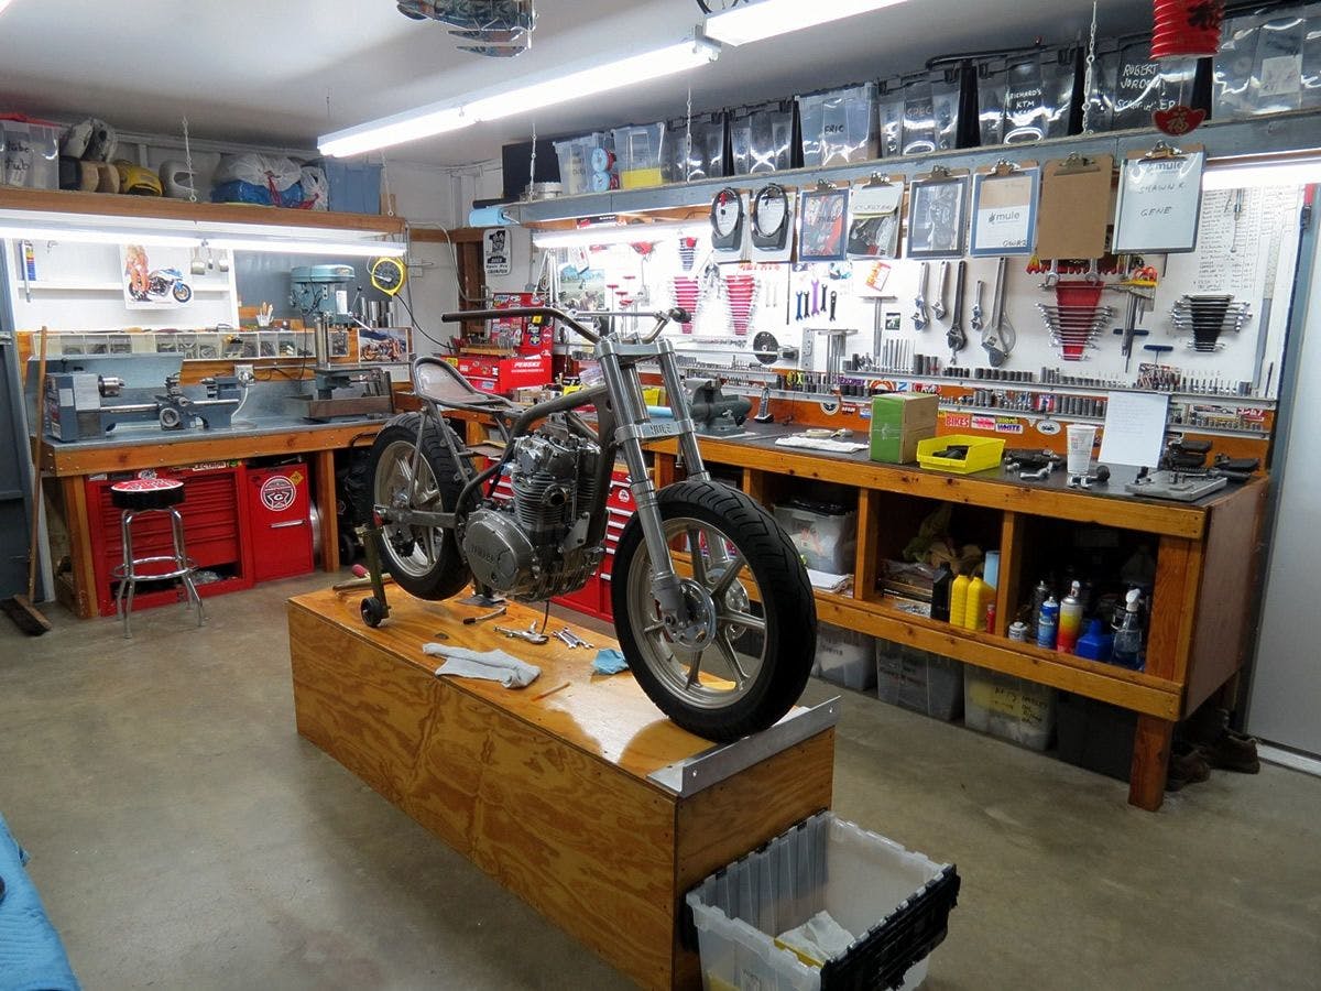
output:
<path id="1" fill-rule="evenodd" d="M 445 313 L 557 321 L 596 346 L 601 385 L 520 407 L 477 391 L 449 362 L 412 365 L 423 408 L 391 419 L 371 448 L 371 511 L 386 571 L 420 599 L 483 595 L 542 603 L 580 589 L 605 556 L 606 497 L 622 455 L 635 511 L 610 575 L 620 646 L 647 696 L 678 725 L 716 741 L 758 732 L 798 700 L 816 653 L 816 606 L 798 550 L 760 503 L 701 461 L 674 346 L 600 333 L 548 307 Z M 638 366 L 659 365 L 672 420 L 651 419 Z M 596 410 L 596 428 L 580 416 Z M 478 468 L 444 419 L 480 414 L 503 455 Z M 683 481 L 657 489 L 643 444 L 676 437 Z M 513 499 L 495 497 L 509 477 Z"/>

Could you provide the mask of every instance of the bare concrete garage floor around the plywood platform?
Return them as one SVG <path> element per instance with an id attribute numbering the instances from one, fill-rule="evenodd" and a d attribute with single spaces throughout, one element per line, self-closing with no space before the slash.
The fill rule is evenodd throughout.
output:
<path id="1" fill-rule="evenodd" d="M 629 982 L 293 727 L 285 581 L 0 628 L 0 810 L 86 987 L 613 988 Z M 947 988 L 1316 988 L 1321 781 L 1119 782 L 844 695 L 835 810 L 958 863 Z"/>

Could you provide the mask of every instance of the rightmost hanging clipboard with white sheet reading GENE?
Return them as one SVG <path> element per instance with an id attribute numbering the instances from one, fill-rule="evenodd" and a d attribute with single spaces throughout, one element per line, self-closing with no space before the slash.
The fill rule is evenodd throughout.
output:
<path id="1" fill-rule="evenodd" d="M 1115 254 L 1180 254 L 1197 247 L 1202 207 L 1202 148 L 1145 155 L 1124 163 L 1115 206 Z"/>

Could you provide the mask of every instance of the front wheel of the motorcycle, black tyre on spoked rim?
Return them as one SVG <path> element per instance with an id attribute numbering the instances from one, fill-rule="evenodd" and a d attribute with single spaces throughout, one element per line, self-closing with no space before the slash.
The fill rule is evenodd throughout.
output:
<path id="1" fill-rule="evenodd" d="M 612 592 L 629 666 L 684 729 L 708 740 L 760 732 L 798 700 L 816 653 L 816 605 L 798 551 L 765 509 L 727 485 L 679 482 L 659 505 L 690 621 L 662 620 L 634 517 Z"/>

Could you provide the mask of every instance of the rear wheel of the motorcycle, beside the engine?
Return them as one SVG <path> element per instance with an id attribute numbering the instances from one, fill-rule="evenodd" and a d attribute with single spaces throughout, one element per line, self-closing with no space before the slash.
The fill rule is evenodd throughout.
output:
<path id="1" fill-rule="evenodd" d="M 432 424 L 427 425 L 415 465 L 420 419 L 419 414 L 396 416 L 376 435 L 371 445 L 374 507 L 453 510 L 462 484 L 449 448 Z M 452 530 L 387 523 L 380 535 L 380 559 L 399 587 L 419 599 L 449 599 L 470 580 Z"/>

